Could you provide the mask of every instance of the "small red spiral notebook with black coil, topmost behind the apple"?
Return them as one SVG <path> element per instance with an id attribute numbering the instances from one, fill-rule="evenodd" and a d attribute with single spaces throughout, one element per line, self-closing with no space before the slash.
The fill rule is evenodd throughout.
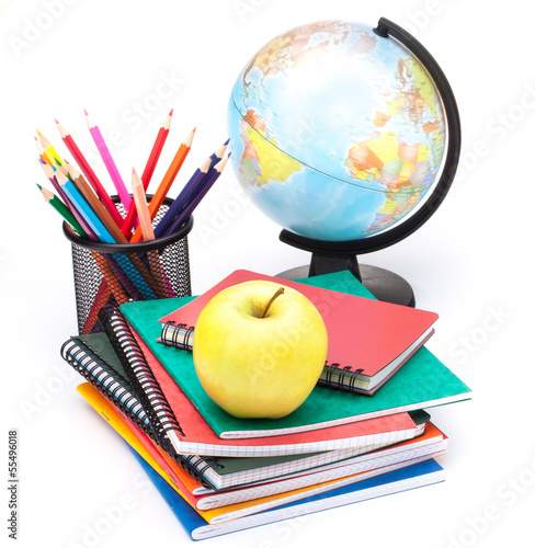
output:
<path id="1" fill-rule="evenodd" d="M 329 388 L 375 393 L 433 334 L 435 312 L 367 298 L 349 272 L 316 276 L 323 287 L 238 270 L 194 300 L 160 319 L 163 344 L 190 350 L 201 310 L 220 290 L 255 279 L 297 289 L 308 297 L 323 318 L 329 335 L 327 363 L 319 383 Z M 351 279 L 353 278 L 353 279 Z M 329 288 L 329 281 L 334 281 Z M 316 279 L 316 283 L 318 279 Z M 353 294 L 342 293 L 353 288 Z"/>

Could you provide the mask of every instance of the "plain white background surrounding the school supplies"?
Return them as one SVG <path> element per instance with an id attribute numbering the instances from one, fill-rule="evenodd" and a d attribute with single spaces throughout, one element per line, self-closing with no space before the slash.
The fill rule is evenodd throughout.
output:
<path id="1" fill-rule="evenodd" d="M 497 9 L 496 5 L 500 5 Z M 19 431 L 19 546 L 187 546 L 191 540 L 124 443 L 76 391 L 59 347 L 75 334 L 70 246 L 35 183 L 35 128 L 66 153 L 54 119 L 92 150 L 87 109 L 122 173 L 143 170 L 171 107 L 155 181 L 196 126 L 175 187 L 226 135 L 226 105 L 242 66 L 270 38 L 325 19 L 374 25 L 387 16 L 433 54 L 456 93 L 464 130 L 459 176 L 410 238 L 364 258 L 412 284 L 440 313 L 429 347 L 473 389 L 471 402 L 432 411 L 449 436 L 440 486 L 268 525 L 208 546 L 499 547 L 534 538 L 533 158 L 535 66 L 520 0 L 0 1 L 0 290 L 2 429 Z M 162 82 L 171 82 L 164 85 Z M 135 114 L 141 105 L 143 117 Z M 66 153 L 66 156 L 68 156 Z M 94 155 L 93 155 L 94 156 Z M 98 173 L 112 186 L 101 163 Z M 195 214 L 193 293 L 238 267 L 276 274 L 308 255 L 240 203 L 231 170 Z M 229 205 L 230 204 L 230 205 Z M 7 480 L 0 537 L 8 539 Z M 105 535 L 105 509 L 129 501 Z M 9 539 L 8 539 L 9 540 Z M 514 543 L 514 540 L 513 540 Z"/>

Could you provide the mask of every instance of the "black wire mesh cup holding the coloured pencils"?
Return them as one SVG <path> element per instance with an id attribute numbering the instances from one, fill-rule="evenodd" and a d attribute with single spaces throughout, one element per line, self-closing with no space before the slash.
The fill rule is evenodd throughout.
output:
<path id="1" fill-rule="evenodd" d="M 150 196 L 147 196 L 150 197 Z M 118 199 L 117 208 L 122 214 Z M 166 198 L 157 225 L 172 199 Z M 67 222 L 64 233 L 71 242 L 78 331 L 102 331 L 99 310 L 129 300 L 150 300 L 191 295 L 187 235 L 190 218 L 177 232 L 143 243 L 102 243 L 80 238 Z"/>

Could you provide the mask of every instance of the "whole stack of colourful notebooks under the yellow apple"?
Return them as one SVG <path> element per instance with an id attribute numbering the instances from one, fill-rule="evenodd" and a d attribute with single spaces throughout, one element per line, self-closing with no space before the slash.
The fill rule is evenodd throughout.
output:
<path id="1" fill-rule="evenodd" d="M 277 420 L 227 414 L 196 377 L 195 319 L 224 286 L 265 277 L 237 271 L 196 299 L 109 308 L 103 333 L 62 346 L 89 381 L 80 393 L 129 444 L 194 539 L 442 481 L 434 457 L 447 437 L 423 409 L 469 398 L 423 346 L 436 315 L 378 302 L 335 273 L 293 284 L 329 335 L 325 373 L 305 403 Z"/>

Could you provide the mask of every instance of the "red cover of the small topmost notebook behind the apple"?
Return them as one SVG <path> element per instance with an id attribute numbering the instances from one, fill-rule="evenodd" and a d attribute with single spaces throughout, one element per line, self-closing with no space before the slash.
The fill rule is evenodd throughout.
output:
<path id="1" fill-rule="evenodd" d="M 421 339 L 402 363 L 389 372 L 387 376 L 389 378 L 431 336 L 432 326 L 439 318 L 435 312 L 426 310 L 238 270 L 208 292 L 160 318 L 159 321 L 162 323 L 173 321 L 177 324 L 194 327 L 201 310 L 217 293 L 226 287 L 253 279 L 277 282 L 308 297 L 319 310 L 327 328 L 329 336 L 327 365 L 339 364 L 341 368 L 349 368 L 350 373 L 360 370 L 361 375 L 371 378 Z"/>

